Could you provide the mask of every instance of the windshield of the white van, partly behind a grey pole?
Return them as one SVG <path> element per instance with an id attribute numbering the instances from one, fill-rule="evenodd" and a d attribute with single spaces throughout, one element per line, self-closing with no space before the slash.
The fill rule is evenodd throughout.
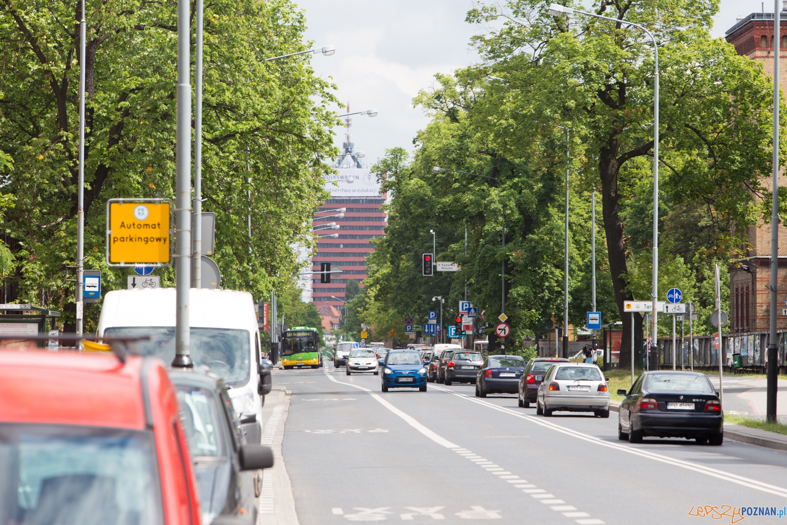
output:
<path id="1" fill-rule="evenodd" d="M 143 356 L 161 358 L 166 364 L 175 359 L 174 327 L 112 327 L 105 335 L 123 337 L 148 337 L 136 342 Z M 249 382 L 249 331 L 232 328 L 191 327 L 190 354 L 194 366 L 204 365 L 220 375 L 230 386 L 243 386 Z"/>

